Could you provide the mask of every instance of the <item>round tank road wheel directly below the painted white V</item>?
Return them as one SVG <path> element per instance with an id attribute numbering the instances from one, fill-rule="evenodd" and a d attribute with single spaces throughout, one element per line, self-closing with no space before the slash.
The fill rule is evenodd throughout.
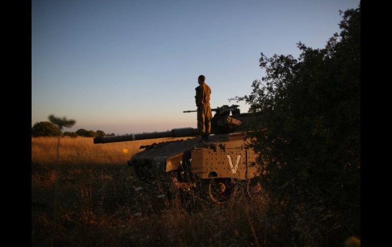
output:
<path id="1" fill-rule="evenodd" d="M 237 193 L 237 186 L 230 178 L 209 179 L 206 186 L 208 198 L 216 203 L 230 202 Z"/>

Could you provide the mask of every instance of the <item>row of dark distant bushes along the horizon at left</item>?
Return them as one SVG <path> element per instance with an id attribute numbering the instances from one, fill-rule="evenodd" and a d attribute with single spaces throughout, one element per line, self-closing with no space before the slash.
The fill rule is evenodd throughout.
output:
<path id="1" fill-rule="evenodd" d="M 115 133 L 111 134 L 106 134 L 102 130 L 86 130 L 86 129 L 78 129 L 76 132 L 70 132 L 70 131 L 65 131 L 62 133 L 60 129 L 52 124 L 51 122 L 37 122 L 34 124 L 32 127 L 32 136 L 38 137 L 38 136 L 59 136 L 60 134 L 63 134 L 64 136 L 70 136 L 72 138 L 75 138 L 77 136 L 83 136 L 83 137 L 97 137 L 97 136 L 115 136 Z"/>

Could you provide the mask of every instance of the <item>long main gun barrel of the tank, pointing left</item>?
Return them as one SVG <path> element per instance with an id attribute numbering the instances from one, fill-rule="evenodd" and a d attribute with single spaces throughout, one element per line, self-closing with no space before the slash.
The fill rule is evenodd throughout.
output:
<path id="1" fill-rule="evenodd" d="M 115 143 L 115 142 L 128 142 L 137 140 L 147 140 L 156 138 L 167 138 L 167 137 L 185 137 L 198 135 L 199 129 L 195 128 L 177 128 L 170 131 L 146 133 L 146 134 L 129 134 L 121 136 L 99 136 L 94 138 L 94 144 L 98 143 Z"/>

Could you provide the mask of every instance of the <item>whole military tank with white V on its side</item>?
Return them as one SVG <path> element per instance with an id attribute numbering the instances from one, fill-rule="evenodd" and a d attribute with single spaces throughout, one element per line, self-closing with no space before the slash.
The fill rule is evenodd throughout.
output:
<path id="1" fill-rule="evenodd" d="M 141 146 L 143 151 L 134 154 L 128 165 L 135 169 L 139 179 L 153 183 L 159 178 L 168 178 L 180 191 L 196 190 L 212 203 L 233 200 L 239 188 L 251 197 L 253 191 L 260 189 L 251 183 L 259 175 L 254 166 L 257 155 L 247 147 L 250 138 L 241 129 L 254 115 L 241 114 L 238 106 L 223 105 L 211 109 L 215 114 L 211 119 L 208 141 L 202 140 L 197 128 L 188 127 L 155 133 L 99 136 L 94 138 L 94 144 L 188 136 L 187 140 Z M 192 112 L 197 111 L 184 111 Z M 166 195 L 169 194 L 168 190 Z"/>

